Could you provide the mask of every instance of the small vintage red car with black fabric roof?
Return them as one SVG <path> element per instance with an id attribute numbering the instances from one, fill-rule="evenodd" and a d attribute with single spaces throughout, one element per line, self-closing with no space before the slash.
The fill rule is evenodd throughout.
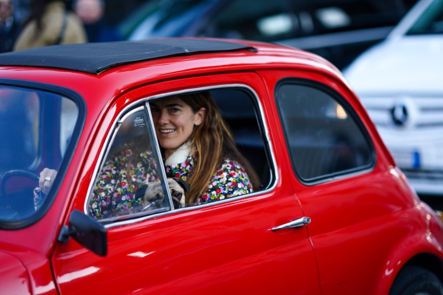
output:
<path id="1" fill-rule="evenodd" d="M 324 59 L 170 38 L 0 65 L 2 294 L 443 294 L 441 220 Z M 172 206 L 152 106 L 190 93 L 213 97 L 259 189 Z M 99 175 L 134 136 L 169 203 L 97 218 Z"/>

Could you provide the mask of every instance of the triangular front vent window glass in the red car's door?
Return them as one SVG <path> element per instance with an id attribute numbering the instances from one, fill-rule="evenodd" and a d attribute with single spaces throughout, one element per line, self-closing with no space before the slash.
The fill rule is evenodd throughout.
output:
<path id="1" fill-rule="evenodd" d="M 87 202 L 87 212 L 93 218 L 124 219 L 170 209 L 147 122 L 143 107 L 119 121 Z M 145 197 L 148 194 L 152 198 Z"/>

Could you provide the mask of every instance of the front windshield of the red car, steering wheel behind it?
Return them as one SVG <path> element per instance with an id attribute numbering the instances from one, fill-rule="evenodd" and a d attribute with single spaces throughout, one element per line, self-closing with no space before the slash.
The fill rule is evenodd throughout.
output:
<path id="1" fill-rule="evenodd" d="M 78 114 L 58 94 L 0 85 L 0 221 L 24 220 L 44 205 L 50 192 L 36 198 L 39 173 L 60 169 Z"/>

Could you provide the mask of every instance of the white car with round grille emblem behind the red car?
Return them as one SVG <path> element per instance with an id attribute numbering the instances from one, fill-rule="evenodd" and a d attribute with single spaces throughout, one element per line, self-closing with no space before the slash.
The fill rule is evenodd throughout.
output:
<path id="1" fill-rule="evenodd" d="M 344 75 L 420 194 L 443 196 L 443 1 L 421 0 Z M 441 202 L 440 202 L 441 203 Z"/>

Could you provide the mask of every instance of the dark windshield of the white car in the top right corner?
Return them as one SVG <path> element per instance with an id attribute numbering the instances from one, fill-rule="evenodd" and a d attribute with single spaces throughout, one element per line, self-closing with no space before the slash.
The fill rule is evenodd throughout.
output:
<path id="1" fill-rule="evenodd" d="M 442 34 L 443 0 L 435 0 L 427 7 L 407 35 Z"/>

